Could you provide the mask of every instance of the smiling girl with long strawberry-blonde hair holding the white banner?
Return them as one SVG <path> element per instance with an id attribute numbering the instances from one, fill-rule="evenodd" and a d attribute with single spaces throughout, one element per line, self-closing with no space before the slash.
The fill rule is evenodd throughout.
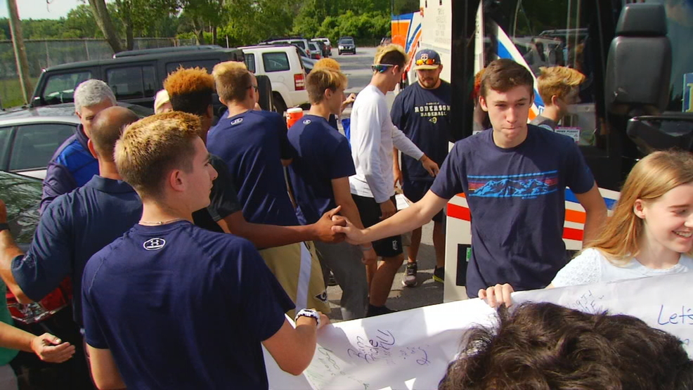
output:
<path id="1" fill-rule="evenodd" d="M 693 270 L 693 155 L 654 152 L 628 174 L 602 233 L 546 288 Z M 492 306 L 510 306 L 512 286 L 479 290 Z"/>

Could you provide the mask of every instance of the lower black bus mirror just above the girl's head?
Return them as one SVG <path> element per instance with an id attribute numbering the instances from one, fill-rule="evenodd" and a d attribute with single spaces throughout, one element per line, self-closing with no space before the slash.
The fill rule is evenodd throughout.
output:
<path id="1" fill-rule="evenodd" d="M 693 114 L 635 117 L 626 133 L 646 155 L 671 148 L 693 151 Z"/>

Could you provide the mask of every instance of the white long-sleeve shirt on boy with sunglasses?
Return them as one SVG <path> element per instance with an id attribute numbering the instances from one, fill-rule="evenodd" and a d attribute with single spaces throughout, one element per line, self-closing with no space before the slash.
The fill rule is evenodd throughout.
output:
<path id="1" fill-rule="evenodd" d="M 392 148 L 420 160 L 424 155 L 392 124 L 385 95 L 373 85 L 358 93 L 351 108 L 351 157 L 356 175 L 349 177 L 351 193 L 382 203 L 394 195 Z"/>

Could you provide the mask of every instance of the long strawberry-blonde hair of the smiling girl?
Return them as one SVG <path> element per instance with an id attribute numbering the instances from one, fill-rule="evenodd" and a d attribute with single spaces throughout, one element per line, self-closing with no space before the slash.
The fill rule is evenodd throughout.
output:
<path id="1" fill-rule="evenodd" d="M 635 201 L 652 202 L 669 190 L 692 182 L 691 153 L 668 150 L 647 155 L 628 174 L 621 197 L 614 207 L 614 215 L 607 221 L 607 226 L 599 237 L 585 243 L 585 249 L 599 249 L 616 265 L 637 256 L 644 222 L 633 212 Z"/>

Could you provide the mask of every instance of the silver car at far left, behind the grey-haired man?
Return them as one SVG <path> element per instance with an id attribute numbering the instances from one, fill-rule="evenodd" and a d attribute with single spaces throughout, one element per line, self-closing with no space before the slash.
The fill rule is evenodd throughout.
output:
<path id="1" fill-rule="evenodd" d="M 139 105 L 119 105 L 140 117 L 153 114 Z M 45 178 L 48 161 L 78 125 L 73 103 L 0 112 L 0 170 Z"/>

